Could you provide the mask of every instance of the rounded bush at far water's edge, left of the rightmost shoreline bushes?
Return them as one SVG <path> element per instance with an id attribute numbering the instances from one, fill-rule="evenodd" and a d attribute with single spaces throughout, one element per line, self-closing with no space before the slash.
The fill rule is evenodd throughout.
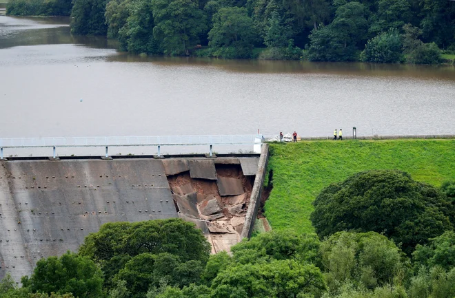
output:
<path id="1" fill-rule="evenodd" d="M 403 60 L 403 43 L 397 31 L 383 32 L 370 39 L 361 53 L 361 61 L 395 63 Z"/>

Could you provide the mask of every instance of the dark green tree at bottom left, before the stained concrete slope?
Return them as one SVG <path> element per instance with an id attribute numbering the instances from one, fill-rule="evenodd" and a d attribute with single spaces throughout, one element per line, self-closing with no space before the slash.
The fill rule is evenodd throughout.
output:
<path id="1" fill-rule="evenodd" d="M 40 259 L 30 278 L 23 278 L 22 284 L 32 292 L 72 293 L 79 298 L 103 295 L 101 270 L 88 257 L 70 252 L 59 258 Z"/>

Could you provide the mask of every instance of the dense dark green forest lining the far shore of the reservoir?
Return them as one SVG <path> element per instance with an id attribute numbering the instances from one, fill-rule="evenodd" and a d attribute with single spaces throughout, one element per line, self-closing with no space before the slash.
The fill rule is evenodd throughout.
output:
<path id="1" fill-rule="evenodd" d="M 134 54 L 423 64 L 455 54 L 449 0 L 10 0 L 7 13 L 68 6 L 72 34 Z"/>

